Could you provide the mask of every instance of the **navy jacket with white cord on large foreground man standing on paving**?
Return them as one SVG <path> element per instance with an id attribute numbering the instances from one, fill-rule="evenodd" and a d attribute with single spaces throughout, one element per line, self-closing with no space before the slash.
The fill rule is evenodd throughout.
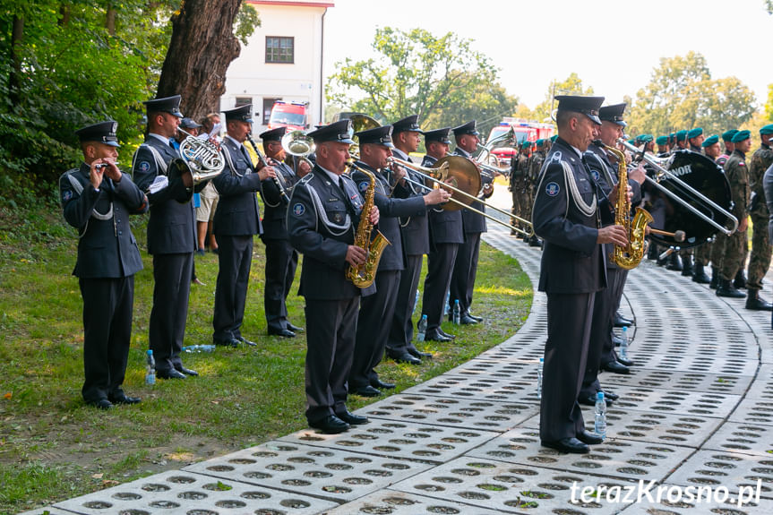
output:
<path id="1" fill-rule="evenodd" d="M 576 294 L 606 288 L 605 256 L 596 240 L 600 221 L 612 219 L 608 202 L 599 200 L 600 209 L 598 205 L 593 209 L 593 177 L 577 151 L 561 137 L 555 140 L 543 168 L 532 215 L 535 233 L 545 240 L 539 291 Z M 572 186 L 579 198 L 571 193 Z"/>

